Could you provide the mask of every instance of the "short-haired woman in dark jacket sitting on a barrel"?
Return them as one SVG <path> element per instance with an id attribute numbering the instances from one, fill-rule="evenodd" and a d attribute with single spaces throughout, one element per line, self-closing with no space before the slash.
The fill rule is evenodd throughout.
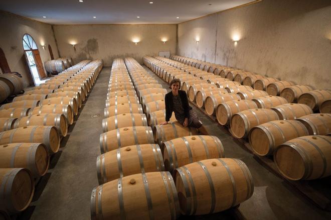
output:
<path id="1" fill-rule="evenodd" d="M 162 125 L 168 124 L 173 111 L 178 122 L 183 126 L 196 127 L 199 131 L 208 135 L 208 132 L 202 122 L 199 120 L 197 113 L 189 105 L 188 96 L 181 88 L 181 80 L 175 78 L 170 82 L 171 91 L 165 94 L 165 121 Z"/>

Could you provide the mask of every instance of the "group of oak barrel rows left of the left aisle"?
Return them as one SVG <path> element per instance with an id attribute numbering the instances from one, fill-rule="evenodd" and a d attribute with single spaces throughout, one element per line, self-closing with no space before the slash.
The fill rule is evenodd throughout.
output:
<path id="1" fill-rule="evenodd" d="M 0 107 L 0 209 L 14 214 L 28 207 L 35 179 L 47 172 L 78 114 L 85 83 L 101 68 L 102 60 L 82 61 Z"/>

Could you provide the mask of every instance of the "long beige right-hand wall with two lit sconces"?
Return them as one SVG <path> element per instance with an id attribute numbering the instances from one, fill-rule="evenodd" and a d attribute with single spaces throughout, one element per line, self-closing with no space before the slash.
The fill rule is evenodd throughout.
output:
<path id="1" fill-rule="evenodd" d="M 178 53 L 330 88 L 330 14 L 329 0 L 263 0 L 179 24 Z"/>

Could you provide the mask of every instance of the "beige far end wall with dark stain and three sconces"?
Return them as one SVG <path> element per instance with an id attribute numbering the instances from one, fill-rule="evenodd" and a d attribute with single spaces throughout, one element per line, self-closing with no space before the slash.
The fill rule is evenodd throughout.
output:
<path id="1" fill-rule="evenodd" d="M 53 25 L 61 56 L 74 61 L 103 59 L 111 65 L 115 57 L 133 57 L 142 63 L 145 55 L 158 55 L 159 51 L 176 53 L 176 24 L 102 24 Z M 161 38 L 166 38 L 166 43 Z M 134 44 L 132 40 L 140 40 Z M 70 43 L 77 43 L 74 50 Z"/>

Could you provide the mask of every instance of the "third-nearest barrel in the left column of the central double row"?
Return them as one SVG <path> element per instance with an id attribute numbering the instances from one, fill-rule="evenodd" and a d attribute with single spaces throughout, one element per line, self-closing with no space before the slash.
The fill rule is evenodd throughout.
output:
<path id="1" fill-rule="evenodd" d="M 101 153 L 145 143 L 154 143 L 152 129 L 147 126 L 121 127 L 100 134 Z"/>

